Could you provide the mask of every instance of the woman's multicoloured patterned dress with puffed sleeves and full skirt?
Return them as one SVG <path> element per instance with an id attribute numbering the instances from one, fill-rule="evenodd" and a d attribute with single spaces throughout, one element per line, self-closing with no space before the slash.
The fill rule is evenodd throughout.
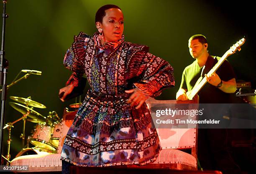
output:
<path id="1" fill-rule="evenodd" d="M 104 46 L 98 33 L 74 37 L 64 66 L 73 71 L 67 84 L 77 86 L 85 74 L 90 90 L 70 127 L 61 159 L 77 166 L 147 164 L 161 150 L 146 103 L 136 109 L 127 103 L 139 88 L 146 98 L 174 86 L 173 68 L 148 53 L 148 47 L 124 41 Z"/>

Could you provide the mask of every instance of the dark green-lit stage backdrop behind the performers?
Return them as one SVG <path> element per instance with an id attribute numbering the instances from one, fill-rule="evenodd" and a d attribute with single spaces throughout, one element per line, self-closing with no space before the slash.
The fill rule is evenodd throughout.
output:
<path id="1" fill-rule="evenodd" d="M 252 1 L 251 1 L 252 2 Z M 183 69 L 192 63 L 188 39 L 201 33 L 207 37 L 209 53 L 222 56 L 236 41 L 245 36 L 241 52 L 228 57 L 237 80 L 255 78 L 255 13 L 253 4 L 240 1 L 203 0 L 8 0 L 6 13 L 5 58 L 9 61 L 7 84 L 22 69 L 42 71 L 8 89 L 5 123 L 22 115 L 12 107 L 10 96 L 27 98 L 47 108 L 34 108 L 44 116 L 56 111 L 60 117 L 75 99 L 62 103 L 58 98 L 71 72 L 62 62 L 73 36 L 80 31 L 93 35 L 95 13 L 105 4 L 120 6 L 125 17 L 125 40 L 148 45 L 150 52 L 168 61 L 174 68 L 176 86 L 166 89 L 157 99 L 174 100 Z M 2 3 L 0 8 L 2 8 Z M 24 75 L 24 73 L 22 73 Z M 87 86 L 88 88 L 88 86 Z M 26 123 L 26 135 L 36 124 Z M 12 129 L 11 159 L 22 149 L 19 138 L 22 121 Z M 4 131 L 3 154 L 6 154 L 7 131 Z"/>

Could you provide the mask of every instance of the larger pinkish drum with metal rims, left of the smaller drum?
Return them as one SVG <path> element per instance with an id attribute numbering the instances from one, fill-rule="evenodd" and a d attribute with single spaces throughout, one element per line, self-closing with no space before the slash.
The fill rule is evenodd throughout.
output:
<path id="1" fill-rule="evenodd" d="M 55 151 L 56 148 L 50 143 L 51 131 L 52 128 L 50 126 L 46 126 L 46 124 L 37 124 L 30 139 L 31 144 L 40 149 Z"/>

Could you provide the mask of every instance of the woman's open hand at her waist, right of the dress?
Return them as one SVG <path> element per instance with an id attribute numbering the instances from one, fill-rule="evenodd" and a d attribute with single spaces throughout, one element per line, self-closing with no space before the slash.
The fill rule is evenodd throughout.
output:
<path id="1" fill-rule="evenodd" d="M 146 97 L 138 88 L 126 90 L 126 93 L 132 93 L 128 98 L 127 103 L 131 106 L 136 106 L 136 109 L 140 108 L 141 105 L 146 101 Z"/>

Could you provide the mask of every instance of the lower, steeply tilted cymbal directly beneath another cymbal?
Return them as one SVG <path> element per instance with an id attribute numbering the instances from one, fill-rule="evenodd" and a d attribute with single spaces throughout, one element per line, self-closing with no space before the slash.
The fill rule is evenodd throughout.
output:
<path id="1" fill-rule="evenodd" d="M 17 111 L 19 111 L 20 113 L 22 113 L 23 115 L 28 113 L 28 117 L 30 117 L 33 120 L 37 120 L 40 122 L 45 122 L 46 121 L 46 117 L 42 116 L 40 113 L 34 111 L 33 109 L 26 107 L 22 104 L 19 103 L 14 103 L 14 102 L 9 102 L 10 106 L 12 106 L 13 108 L 15 108 Z"/>

